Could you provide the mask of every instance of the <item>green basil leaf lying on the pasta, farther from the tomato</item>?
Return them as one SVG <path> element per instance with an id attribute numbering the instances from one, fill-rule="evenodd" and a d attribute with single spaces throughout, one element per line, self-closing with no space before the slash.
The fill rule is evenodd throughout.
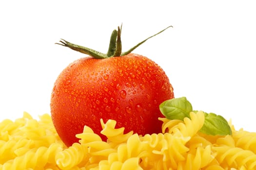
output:
<path id="1" fill-rule="evenodd" d="M 220 115 L 204 112 L 204 124 L 200 132 L 207 135 L 232 135 L 232 130 L 227 122 Z"/>

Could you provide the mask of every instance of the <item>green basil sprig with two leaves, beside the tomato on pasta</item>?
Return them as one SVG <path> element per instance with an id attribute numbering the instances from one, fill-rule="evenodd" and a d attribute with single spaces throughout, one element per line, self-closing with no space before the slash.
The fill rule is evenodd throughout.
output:
<path id="1" fill-rule="evenodd" d="M 186 97 L 174 98 L 162 102 L 159 105 L 159 109 L 167 119 L 179 120 L 183 120 L 185 117 L 190 118 L 189 114 L 193 111 L 192 105 Z M 197 113 L 197 111 L 194 112 Z M 204 112 L 204 117 L 204 124 L 200 129 L 201 133 L 221 136 L 232 134 L 231 127 L 222 116 Z"/>

